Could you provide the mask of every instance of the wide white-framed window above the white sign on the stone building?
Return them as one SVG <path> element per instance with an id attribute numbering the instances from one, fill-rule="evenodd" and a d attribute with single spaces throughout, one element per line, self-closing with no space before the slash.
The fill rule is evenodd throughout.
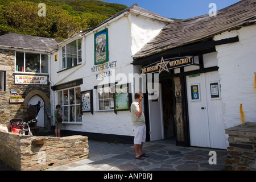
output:
<path id="1" fill-rule="evenodd" d="M 16 52 L 16 72 L 48 73 L 48 55 Z"/>

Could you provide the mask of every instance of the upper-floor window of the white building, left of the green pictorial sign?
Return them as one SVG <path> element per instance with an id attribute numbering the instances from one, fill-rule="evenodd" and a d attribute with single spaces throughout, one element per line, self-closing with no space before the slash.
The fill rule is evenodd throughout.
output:
<path id="1" fill-rule="evenodd" d="M 75 67 L 82 62 L 82 40 L 77 39 L 62 48 L 62 69 Z"/>

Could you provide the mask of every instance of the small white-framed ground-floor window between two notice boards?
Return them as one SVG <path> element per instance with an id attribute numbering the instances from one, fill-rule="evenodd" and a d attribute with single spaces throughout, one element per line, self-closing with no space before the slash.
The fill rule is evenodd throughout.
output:
<path id="1" fill-rule="evenodd" d="M 98 110 L 114 110 L 114 86 L 98 89 Z"/>

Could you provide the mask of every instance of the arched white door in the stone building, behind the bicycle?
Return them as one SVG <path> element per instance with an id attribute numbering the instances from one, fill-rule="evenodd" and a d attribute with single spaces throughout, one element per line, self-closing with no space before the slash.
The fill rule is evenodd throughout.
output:
<path id="1" fill-rule="evenodd" d="M 38 113 L 38 122 L 36 126 L 40 126 L 40 127 L 44 127 L 44 101 L 41 97 L 39 96 L 33 96 L 30 98 L 30 100 L 28 101 L 28 105 L 36 105 L 38 104 L 38 101 L 40 101 L 40 110 Z"/>

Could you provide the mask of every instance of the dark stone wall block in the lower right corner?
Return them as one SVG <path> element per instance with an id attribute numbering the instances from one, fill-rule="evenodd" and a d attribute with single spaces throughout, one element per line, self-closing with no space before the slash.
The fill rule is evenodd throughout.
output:
<path id="1" fill-rule="evenodd" d="M 228 159 L 225 160 L 229 171 L 256 170 L 256 123 L 245 123 L 226 130 L 229 134 Z"/>

